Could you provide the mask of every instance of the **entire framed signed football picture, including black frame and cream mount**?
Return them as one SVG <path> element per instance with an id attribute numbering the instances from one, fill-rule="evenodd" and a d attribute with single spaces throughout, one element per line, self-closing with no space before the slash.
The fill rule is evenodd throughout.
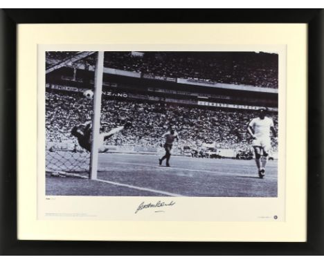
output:
<path id="1" fill-rule="evenodd" d="M 50 10 L 1 12 L 6 47 L 17 46 L 3 68 L 16 73 L 6 97 L 17 95 L 5 108 L 17 107 L 17 178 L 3 185 L 17 201 L 5 207 L 11 245 L 323 252 L 323 10 L 249 10 L 249 21 L 238 10 L 213 21 L 196 21 L 210 10 L 170 10 L 170 21 L 88 10 L 60 23 Z"/>

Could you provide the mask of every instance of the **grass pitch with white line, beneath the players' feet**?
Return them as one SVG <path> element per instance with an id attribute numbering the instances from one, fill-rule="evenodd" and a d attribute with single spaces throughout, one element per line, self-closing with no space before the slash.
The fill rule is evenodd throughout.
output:
<path id="1" fill-rule="evenodd" d="M 165 167 L 165 163 L 160 167 L 158 158 L 157 155 L 100 154 L 98 180 L 55 178 L 46 173 L 46 195 L 278 196 L 276 160 L 268 162 L 266 176 L 260 179 L 254 160 L 171 156 L 171 167 Z"/>

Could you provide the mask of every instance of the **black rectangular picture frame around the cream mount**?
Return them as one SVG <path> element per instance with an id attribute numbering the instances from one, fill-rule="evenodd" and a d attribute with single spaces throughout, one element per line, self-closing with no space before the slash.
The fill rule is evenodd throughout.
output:
<path id="1" fill-rule="evenodd" d="M 20 23 L 307 23 L 308 178 L 305 243 L 17 240 L 16 41 Z M 323 255 L 324 10 L 0 10 L 1 255 Z M 296 62 L 298 63 L 298 62 Z M 28 131 L 26 131 L 28 133 Z M 296 128 L 298 133 L 298 128 Z M 297 142 L 298 144 L 298 142 Z"/>

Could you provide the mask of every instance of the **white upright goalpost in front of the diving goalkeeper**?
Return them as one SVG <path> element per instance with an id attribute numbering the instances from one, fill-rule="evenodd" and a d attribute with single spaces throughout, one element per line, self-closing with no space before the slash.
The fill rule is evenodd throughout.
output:
<path id="1" fill-rule="evenodd" d="M 98 171 L 98 149 L 100 134 L 100 113 L 101 113 L 101 95 L 102 95 L 102 77 L 104 68 L 104 52 L 98 51 L 94 79 L 94 98 L 93 98 L 93 120 L 92 120 L 92 138 L 89 178 L 97 179 Z"/>

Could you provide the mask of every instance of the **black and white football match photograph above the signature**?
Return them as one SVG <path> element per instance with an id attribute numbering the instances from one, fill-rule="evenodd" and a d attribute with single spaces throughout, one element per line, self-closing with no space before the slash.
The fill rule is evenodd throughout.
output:
<path id="1" fill-rule="evenodd" d="M 46 196 L 278 197 L 266 51 L 46 51 Z"/>

